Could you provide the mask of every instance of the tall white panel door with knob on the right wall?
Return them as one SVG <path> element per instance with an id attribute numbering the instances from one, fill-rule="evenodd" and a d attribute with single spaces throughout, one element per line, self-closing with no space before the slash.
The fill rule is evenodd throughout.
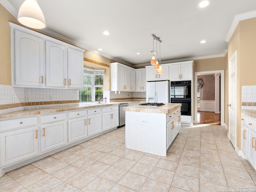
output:
<path id="1" fill-rule="evenodd" d="M 230 57 L 229 63 L 229 86 L 228 86 L 228 133 L 229 133 L 229 140 L 236 148 L 236 51 Z"/>

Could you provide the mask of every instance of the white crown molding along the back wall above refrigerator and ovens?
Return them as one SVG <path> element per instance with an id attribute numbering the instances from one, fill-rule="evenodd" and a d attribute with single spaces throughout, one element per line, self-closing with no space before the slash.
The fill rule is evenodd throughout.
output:
<path id="1" fill-rule="evenodd" d="M 222 54 L 216 55 L 208 55 L 208 56 L 200 56 L 200 57 L 190 57 L 190 58 L 183 58 L 183 59 L 175 59 L 175 60 L 168 60 L 168 61 L 161 61 L 161 64 L 169 64 L 169 63 L 176 63 L 176 62 L 184 62 L 184 61 L 192 61 L 192 60 L 201 60 L 201 59 L 210 59 L 210 58 L 218 58 L 224 57 L 228 53 L 228 50 L 225 49 Z M 150 63 L 138 64 L 133 65 L 133 68 L 143 67 L 143 66 L 150 66 Z"/>

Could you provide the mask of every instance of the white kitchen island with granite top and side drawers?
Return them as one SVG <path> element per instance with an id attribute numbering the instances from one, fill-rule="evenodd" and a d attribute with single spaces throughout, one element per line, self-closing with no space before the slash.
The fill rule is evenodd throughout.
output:
<path id="1" fill-rule="evenodd" d="M 180 131 L 181 104 L 130 106 L 124 108 L 126 148 L 166 156 Z"/>

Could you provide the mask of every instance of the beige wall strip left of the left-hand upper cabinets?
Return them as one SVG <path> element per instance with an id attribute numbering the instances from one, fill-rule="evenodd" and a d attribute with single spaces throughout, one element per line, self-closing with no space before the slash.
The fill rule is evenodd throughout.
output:
<path id="1" fill-rule="evenodd" d="M 12 85 L 9 21 L 16 24 L 19 23 L 18 20 L 0 4 L 0 84 L 2 85 Z"/>

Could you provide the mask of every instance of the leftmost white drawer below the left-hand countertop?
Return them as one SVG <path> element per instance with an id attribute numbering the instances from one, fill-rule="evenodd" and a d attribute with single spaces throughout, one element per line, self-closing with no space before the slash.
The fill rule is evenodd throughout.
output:
<path id="1" fill-rule="evenodd" d="M 37 125 L 37 116 L 0 121 L 0 131 Z"/>

